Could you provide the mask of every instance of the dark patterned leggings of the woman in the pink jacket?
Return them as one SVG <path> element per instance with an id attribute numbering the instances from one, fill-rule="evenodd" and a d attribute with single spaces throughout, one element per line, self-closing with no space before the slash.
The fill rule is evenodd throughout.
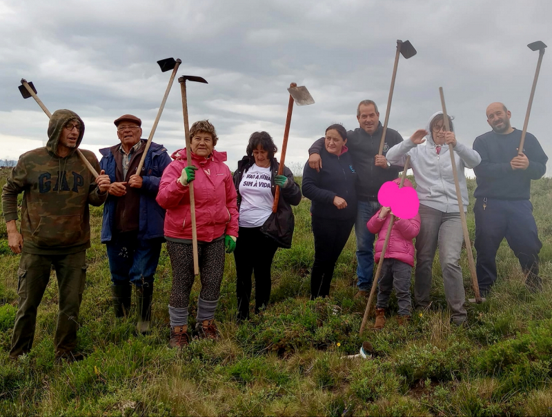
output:
<path id="1" fill-rule="evenodd" d="M 186 308 L 190 303 L 190 292 L 195 281 L 192 245 L 167 241 L 167 252 L 172 266 L 169 305 Z M 220 296 L 220 285 L 224 274 L 224 240 L 199 245 L 197 255 L 201 278 L 199 297 L 205 301 L 216 301 Z"/>

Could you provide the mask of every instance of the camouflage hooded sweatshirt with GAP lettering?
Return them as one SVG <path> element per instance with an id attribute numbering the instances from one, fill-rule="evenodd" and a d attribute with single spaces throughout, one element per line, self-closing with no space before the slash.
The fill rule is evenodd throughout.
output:
<path id="1" fill-rule="evenodd" d="M 81 123 L 77 145 L 61 158 L 57 145 L 68 121 Z M 99 206 L 107 193 L 99 194 L 94 176 L 77 155 L 84 123 L 70 110 L 57 110 L 48 125 L 48 143 L 19 157 L 2 190 L 6 222 L 17 220 L 17 195 L 23 192 L 21 234 L 23 252 L 38 255 L 73 254 L 90 247 L 88 204 Z M 95 154 L 81 150 L 99 172 Z"/>

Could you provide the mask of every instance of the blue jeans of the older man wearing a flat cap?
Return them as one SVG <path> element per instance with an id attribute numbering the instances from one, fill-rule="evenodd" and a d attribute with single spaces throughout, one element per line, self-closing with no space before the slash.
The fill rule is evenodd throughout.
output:
<path id="1" fill-rule="evenodd" d="M 112 283 L 130 282 L 137 287 L 152 284 L 163 241 L 163 238 L 138 239 L 137 232 L 114 234 L 106 243 Z"/>

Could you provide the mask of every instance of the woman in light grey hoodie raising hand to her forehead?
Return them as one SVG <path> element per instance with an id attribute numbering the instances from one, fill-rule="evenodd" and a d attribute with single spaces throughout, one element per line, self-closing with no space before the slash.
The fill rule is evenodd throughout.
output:
<path id="1" fill-rule="evenodd" d="M 453 130 L 450 116 L 449 123 Z M 425 146 L 419 146 L 424 142 L 426 142 Z M 426 309 L 430 304 L 433 258 L 439 245 L 446 302 L 451 309 L 453 323 L 461 325 L 467 318 L 466 309 L 464 309 L 464 281 L 459 263 L 464 236 L 449 155 L 449 143 L 454 148 L 462 203 L 466 210 L 469 200 L 466 177 L 463 175 L 464 167 L 476 167 L 481 162 L 481 156 L 475 150 L 457 142 L 453 132 L 444 132 L 442 112 L 431 116 L 427 130 L 417 130 L 410 140 L 398 143 L 388 150 L 386 158 L 392 165 L 404 165 L 406 156 L 410 155 L 417 184 L 416 191 L 420 199 L 422 223 L 415 245 L 415 307 L 421 310 Z"/>

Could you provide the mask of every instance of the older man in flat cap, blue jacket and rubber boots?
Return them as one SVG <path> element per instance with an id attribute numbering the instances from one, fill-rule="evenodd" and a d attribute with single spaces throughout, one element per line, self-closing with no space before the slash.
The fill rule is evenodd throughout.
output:
<path id="1" fill-rule="evenodd" d="M 137 172 L 147 142 L 140 139 L 141 120 L 124 114 L 114 123 L 121 143 L 100 150 L 103 156 L 100 165 L 111 180 L 103 206 L 101 242 L 106 243 L 108 252 L 115 316 L 128 314 L 130 284 L 135 285 L 137 329 L 146 333 L 151 320 L 153 274 L 164 241 L 165 210 L 159 207 L 155 197 L 170 156 L 163 145 L 152 142 L 144 166 Z"/>

